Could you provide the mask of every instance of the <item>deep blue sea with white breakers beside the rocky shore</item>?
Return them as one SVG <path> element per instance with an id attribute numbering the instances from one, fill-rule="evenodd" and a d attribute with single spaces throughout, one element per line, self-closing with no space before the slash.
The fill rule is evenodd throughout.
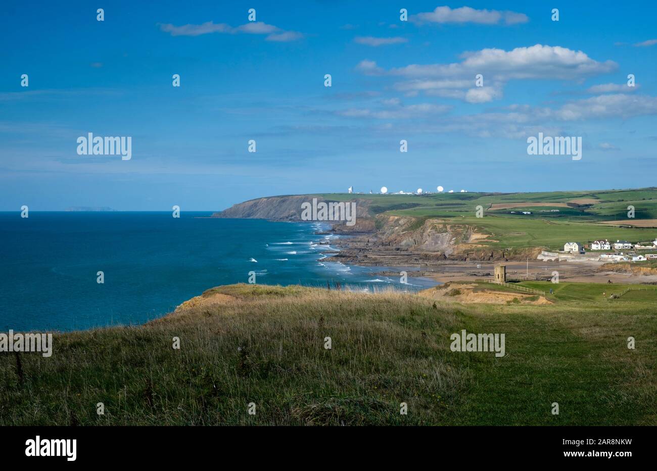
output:
<path id="1" fill-rule="evenodd" d="M 212 213 L 0 213 L 0 331 L 72 331 L 144 323 L 217 285 L 248 282 L 350 289 L 428 279 L 373 276 L 332 262 L 322 223 L 209 218 Z M 97 283 L 97 272 L 104 283 Z"/>

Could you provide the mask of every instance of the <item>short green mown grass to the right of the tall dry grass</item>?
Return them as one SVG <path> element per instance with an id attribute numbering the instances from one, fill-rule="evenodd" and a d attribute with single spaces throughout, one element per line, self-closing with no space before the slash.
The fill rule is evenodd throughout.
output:
<path id="1" fill-rule="evenodd" d="M 656 424 L 655 287 L 518 284 L 547 293 L 553 287 L 555 294 L 547 298 L 555 304 L 479 304 L 466 314 L 474 332 L 505 332 L 509 356 L 474 363 L 470 371 L 478 380 L 464 396 L 455 423 Z M 608 296 L 627 287 L 633 291 L 622 298 L 602 297 L 602 291 Z M 495 289 L 514 291 L 499 285 Z M 627 337 L 635 337 L 635 350 L 627 348 Z M 549 413 L 553 402 L 560 407 L 557 416 Z"/>

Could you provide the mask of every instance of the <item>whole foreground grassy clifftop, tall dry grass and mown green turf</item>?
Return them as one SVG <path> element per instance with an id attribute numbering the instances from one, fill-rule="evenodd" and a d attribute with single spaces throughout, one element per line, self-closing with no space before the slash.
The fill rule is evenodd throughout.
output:
<path id="1" fill-rule="evenodd" d="M 218 287 L 143 327 L 56 335 L 51 358 L 3 354 L 0 424 L 657 424 L 654 287 L 522 284 L 554 304 Z M 451 352 L 461 329 L 505 333 L 507 356 Z"/>

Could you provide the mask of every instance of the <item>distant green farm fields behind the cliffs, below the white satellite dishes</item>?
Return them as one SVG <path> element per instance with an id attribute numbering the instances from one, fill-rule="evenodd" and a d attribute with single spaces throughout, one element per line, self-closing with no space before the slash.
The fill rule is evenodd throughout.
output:
<path id="1" fill-rule="evenodd" d="M 421 220 L 442 218 L 452 224 L 478 226 L 496 242 L 483 242 L 491 248 L 546 247 L 563 249 L 566 241 L 586 243 L 596 239 L 632 242 L 652 241 L 654 228 L 625 228 L 599 224 L 602 221 L 657 218 L 657 188 L 642 190 L 606 190 L 595 192 L 543 192 L 517 194 L 441 193 L 430 195 L 350 195 L 323 194 L 328 199 L 346 201 L 353 197 L 369 199 L 371 214 L 414 216 Z M 506 209 L 491 205 L 514 204 Z M 533 206 L 523 203 L 545 203 Z M 569 204 L 555 206 L 551 203 Z M 635 208 L 635 218 L 627 218 L 627 207 Z M 484 217 L 476 217 L 482 206 Z M 551 211 L 558 209 L 559 211 Z M 515 211 L 512 214 L 511 211 Z M 531 211 L 522 215 L 521 211 Z"/>

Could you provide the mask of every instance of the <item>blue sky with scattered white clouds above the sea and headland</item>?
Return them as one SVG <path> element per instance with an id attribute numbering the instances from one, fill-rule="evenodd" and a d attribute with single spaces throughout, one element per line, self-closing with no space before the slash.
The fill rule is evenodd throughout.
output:
<path id="1" fill-rule="evenodd" d="M 4 2 L 0 14 L 0 211 L 656 181 L 653 2 Z M 132 158 L 78 155 L 90 132 L 131 136 Z M 539 132 L 581 136 L 582 159 L 528 155 Z"/>

